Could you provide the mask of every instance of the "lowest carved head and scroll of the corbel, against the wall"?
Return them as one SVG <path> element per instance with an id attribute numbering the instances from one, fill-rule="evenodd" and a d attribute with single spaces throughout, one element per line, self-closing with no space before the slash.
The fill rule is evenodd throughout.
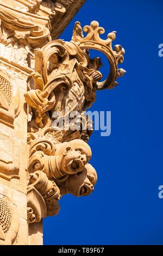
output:
<path id="1" fill-rule="evenodd" d="M 54 181 L 41 171 L 30 174 L 27 189 L 28 222 L 40 222 L 42 218 L 59 212 L 60 190 Z"/>

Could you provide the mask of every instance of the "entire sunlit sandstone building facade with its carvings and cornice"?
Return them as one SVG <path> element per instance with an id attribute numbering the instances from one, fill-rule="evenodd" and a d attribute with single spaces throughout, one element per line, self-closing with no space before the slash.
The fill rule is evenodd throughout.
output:
<path id="1" fill-rule="evenodd" d="M 42 245 L 42 218 L 58 214 L 61 196 L 94 190 L 83 113 L 96 90 L 117 86 L 124 49 L 112 48 L 116 32 L 101 39 L 96 21 L 58 39 L 84 2 L 0 0 L 0 245 Z M 105 81 L 89 49 L 108 58 Z"/>

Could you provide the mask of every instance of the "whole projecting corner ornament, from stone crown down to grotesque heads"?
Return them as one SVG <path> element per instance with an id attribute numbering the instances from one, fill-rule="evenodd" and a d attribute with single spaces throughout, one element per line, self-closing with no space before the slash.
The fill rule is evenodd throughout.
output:
<path id="1" fill-rule="evenodd" d="M 123 62 L 124 49 L 121 45 L 112 49 L 116 32 L 109 33 L 106 40 L 99 37 L 103 33 L 96 21 L 84 29 L 76 22 L 72 41 L 55 40 L 35 50 L 35 71 L 26 95 L 30 114 L 29 222 L 57 214 L 62 195 L 87 196 L 96 184 L 96 170 L 88 163 L 91 149 L 86 142 L 92 133 L 89 119 L 84 120 L 87 128 L 82 130 L 76 123 L 67 124 L 66 117 L 78 111 L 82 123 L 82 113 L 96 100 L 96 90 L 114 88 L 117 78 L 126 72 L 117 67 Z M 91 59 L 89 49 L 103 52 L 109 60 L 110 73 L 103 82 L 101 59 Z M 63 125 L 58 127 L 60 118 Z"/>

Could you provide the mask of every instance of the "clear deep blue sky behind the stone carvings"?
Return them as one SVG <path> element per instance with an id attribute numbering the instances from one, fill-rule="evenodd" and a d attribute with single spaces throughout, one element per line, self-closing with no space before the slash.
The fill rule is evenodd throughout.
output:
<path id="1" fill-rule="evenodd" d="M 67 195 L 58 216 L 44 220 L 44 245 L 162 245 L 163 3 L 160 0 L 87 0 L 73 25 L 97 20 L 126 49 L 127 74 L 114 90 L 97 93 L 91 110 L 111 111 L 111 136 L 93 132 L 90 163 L 98 182 L 89 197 Z M 104 76 L 108 63 L 103 59 Z"/>

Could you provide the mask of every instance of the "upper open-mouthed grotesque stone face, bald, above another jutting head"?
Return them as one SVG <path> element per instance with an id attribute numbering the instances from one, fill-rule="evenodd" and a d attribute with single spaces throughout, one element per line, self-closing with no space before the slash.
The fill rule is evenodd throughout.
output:
<path id="1" fill-rule="evenodd" d="M 85 142 L 77 139 L 68 143 L 63 156 L 61 169 L 67 174 L 76 174 L 82 172 L 85 164 L 90 160 L 91 149 Z"/>

